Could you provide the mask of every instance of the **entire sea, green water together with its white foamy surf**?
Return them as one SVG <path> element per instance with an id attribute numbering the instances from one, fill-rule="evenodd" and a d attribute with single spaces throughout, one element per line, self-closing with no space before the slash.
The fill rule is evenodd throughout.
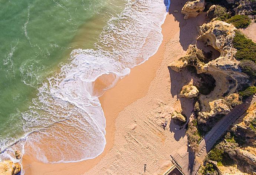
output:
<path id="1" fill-rule="evenodd" d="M 165 9 L 160 0 L 0 0 L 0 149 L 24 138 L 43 162 L 99 155 L 105 118 L 93 82 L 128 75 L 156 52 Z"/>

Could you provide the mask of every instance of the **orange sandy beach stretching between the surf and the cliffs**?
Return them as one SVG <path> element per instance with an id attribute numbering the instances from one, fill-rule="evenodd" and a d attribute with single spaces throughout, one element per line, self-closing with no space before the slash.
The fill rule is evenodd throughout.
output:
<path id="1" fill-rule="evenodd" d="M 100 98 L 106 117 L 104 152 L 95 159 L 69 164 L 43 164 L 24 155 L 26 175 L 162 174 L 170 166 L 170 153 L 186 145 L 187 138 L 185 129 L 172 120 L 165 130 L 160 126 L 185 103 L 177 99 L 183 75 L 169 72 L 167 66 L 195 43 L 196 27 L 204 20 L 202 15 L 184 21 L 180 12 L 173 12 L 181 11 L 183 4 L 184 0 L 171 0 L 157 53 Z M 193 106 L 185 106 L 183 111 L 189 116 Z"/>

